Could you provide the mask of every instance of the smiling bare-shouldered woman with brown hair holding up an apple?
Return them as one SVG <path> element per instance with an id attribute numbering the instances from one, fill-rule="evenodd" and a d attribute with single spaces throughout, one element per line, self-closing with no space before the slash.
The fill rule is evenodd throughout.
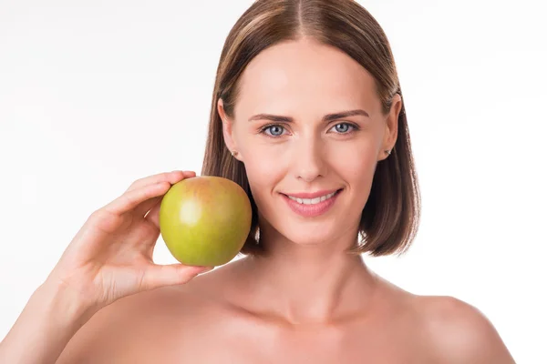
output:
<path id="1" fill-rule="evenodd" d="M 386 35 L 355 2 L 255 2 L 222 50 L 203 175 L 247 191 L 245 258 L 158 266 L 161 197 L 94 212 L 0 346 L 5 363 L 512 363 L 477 308 L 411 294 L 360 254 L 404 252 L 418 181 Z"/>

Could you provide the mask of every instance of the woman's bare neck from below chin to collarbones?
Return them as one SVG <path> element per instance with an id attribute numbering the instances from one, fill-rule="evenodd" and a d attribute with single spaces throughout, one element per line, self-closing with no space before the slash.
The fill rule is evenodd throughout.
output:
<path id="1" fill-rule="evenodd" d="M 360 256 L 346 253 L 351 239 L 306 247 L 263 240 L 266 253 L 242 262 L 253 306 L 291 324 L 329 324 L 362 314 L 377 279 Z"/>

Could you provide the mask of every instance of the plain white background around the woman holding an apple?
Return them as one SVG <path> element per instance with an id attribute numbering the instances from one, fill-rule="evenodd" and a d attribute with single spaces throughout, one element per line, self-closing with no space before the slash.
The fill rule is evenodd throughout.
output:
<path id="1" fill-rule="evenodd" d="M 396 57 L 423 216 L 418 294 L 480 308 L 545 363 L 547 51 L 541 1 L 360 1 Z M 88 215 L 201 159 L 226 35 L 250 0 L 0 1 L 0 339 Z M 160 240 L 160 263 L 175 262 Z"/>

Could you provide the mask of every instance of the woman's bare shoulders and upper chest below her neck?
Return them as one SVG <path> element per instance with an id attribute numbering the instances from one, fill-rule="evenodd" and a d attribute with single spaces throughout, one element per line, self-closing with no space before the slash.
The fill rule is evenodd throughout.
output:
<path id="1" fill-rule="evenodd" d="M 475 308 L 413 295 L 368 269 L 372 289 L 360 310 L 289 322 L 266 302 L 277 298 L 248 289 L 250 260 L 120 299 L 78 331 L 57 363 L 514 362 Z"/>

